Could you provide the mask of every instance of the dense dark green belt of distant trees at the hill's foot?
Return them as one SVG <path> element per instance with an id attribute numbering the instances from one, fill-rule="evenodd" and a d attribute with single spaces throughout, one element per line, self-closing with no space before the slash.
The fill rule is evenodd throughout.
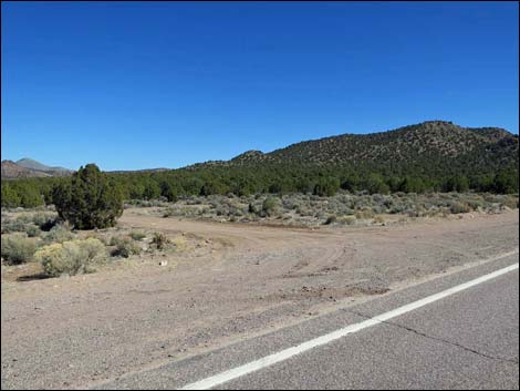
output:
<path id="1" fill-rule="evenodd" d="M 280 165 L 254 166 L 202 165 L 164 172 L 110 173 L 125 199 L 165 197 L 176 200 L 186 195 L 257 193 L 313 193 L 330 196 L 340 188 L 371 194 L 395 192 L 519 192 L 518 168 L 512 165 L 497 172 L 471 175 L 467 173 L 431 174 L 418 169 L 395 175 L 389 171 L 355 169 L 344 166 Z M 469 167 L 468 169 L 470 169 Z M 53 189 L 70 177 L 2 179 L 3 207 L 34 207 L 53 204 Z"/>

